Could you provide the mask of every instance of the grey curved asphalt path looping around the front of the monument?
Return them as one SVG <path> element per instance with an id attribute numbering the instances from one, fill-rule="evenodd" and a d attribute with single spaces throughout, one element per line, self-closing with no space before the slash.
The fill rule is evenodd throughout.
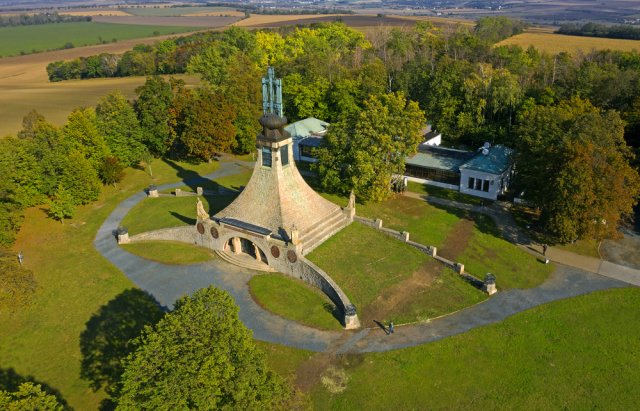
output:
<path id="1" fill-rule="evenodd" d="M 242 171 L 243 164 L 223 162 L 220 168 L 204 178 L 214 179 Z M 177 182 L 158 186 L 166 190 L 194 183 Z M 165 265 L 135 256 L 117 245 L 114 230 L 133 206 L 146 198 L 144 192 L 132 195 L 116 207 L 104 221 L 94 245 L 138 287 L 150 293 L 161 305 L 171 308 L 185 294 L 215 285 L 228 291 L 240 307 L 240 319 L 256 339 L 311 351 L 375 352 L 411 347 L 460 334 L 476 327 L 502 321 L 518 312 L 551 301 L 575 297 L 628 284 L 558 265 L 542 285 L 526 290 L 500 292 L 488 300 L 430 322 L 396 326 L 393 335 L 378 328 L 363 328 L 352 332 L 321 331 L 286 320 L 258 306 L 249 294 L 247 282 L 251 271 L 212 260 L 188 266 Z M 363 324 L 373 326 L 373 324 Z"/>

